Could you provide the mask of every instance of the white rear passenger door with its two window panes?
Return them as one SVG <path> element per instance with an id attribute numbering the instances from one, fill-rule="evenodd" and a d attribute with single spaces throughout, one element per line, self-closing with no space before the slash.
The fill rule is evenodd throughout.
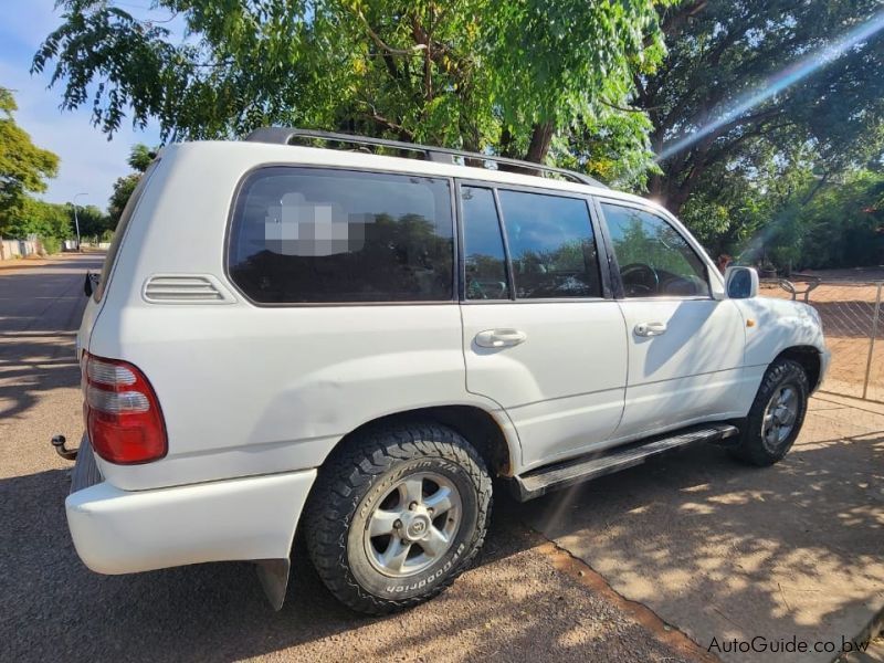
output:
<path id="1" fill-rule="evenodd" d="M 526 469 L 603 443 L 623 409 L 627 340 L 590 201 L 481 182 L 460 182 L 457 200 L 467 390 L 506 409 Z"/>

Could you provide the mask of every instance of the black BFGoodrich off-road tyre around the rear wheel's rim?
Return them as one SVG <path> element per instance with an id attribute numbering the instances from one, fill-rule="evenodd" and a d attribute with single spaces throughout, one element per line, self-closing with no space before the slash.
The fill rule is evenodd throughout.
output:
<path id="1" fill-rule="evenodd" d="M 460 524 L 433 566 L 412 577 L 388 577 L 359 541 L 385 491 L 422 472 L 459 491 Z M 435 423 L 369 431 L 336 449 L 319 470 L 304 514 L 307 550 L 325 586 L 352 610 L 404 610 L 439 594 L 469 567 L 484 543 L 491 503 L 485 464 L 455 431 Z"/>

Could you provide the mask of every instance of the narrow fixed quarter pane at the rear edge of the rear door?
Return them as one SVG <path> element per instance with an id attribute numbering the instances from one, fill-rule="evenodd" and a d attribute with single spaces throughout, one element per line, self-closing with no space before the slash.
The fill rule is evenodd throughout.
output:
<path id="1" fill-rule="evenodd" d="M 497 208 L 491 189 L 461 187 L 464 290 L 467 299 L 508 299 L 509 284 Z"/>

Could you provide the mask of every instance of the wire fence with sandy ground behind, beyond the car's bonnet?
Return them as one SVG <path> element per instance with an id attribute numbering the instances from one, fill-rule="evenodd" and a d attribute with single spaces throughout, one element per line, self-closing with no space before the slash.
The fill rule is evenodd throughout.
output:
<path id="1" fill-rule="evenodd" d="M 814 283 L 817 283 L 814 285 Z M 821 390 L 884 402 L 884 281 L 765 282 L 762 296 L 797 298 L 820 312 L 832 362 Z"/>

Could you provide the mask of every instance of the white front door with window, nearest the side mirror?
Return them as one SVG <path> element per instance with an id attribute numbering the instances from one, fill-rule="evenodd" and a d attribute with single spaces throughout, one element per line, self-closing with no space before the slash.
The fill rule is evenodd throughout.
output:
<path id="1" fill-rule="evenodd" d="M 615 200 L 600 208 L 629 339 L 618 438 L 739 415 L 744 322 L 734 302 L 713 298 L 707 262 L 656 211 Z"/>

